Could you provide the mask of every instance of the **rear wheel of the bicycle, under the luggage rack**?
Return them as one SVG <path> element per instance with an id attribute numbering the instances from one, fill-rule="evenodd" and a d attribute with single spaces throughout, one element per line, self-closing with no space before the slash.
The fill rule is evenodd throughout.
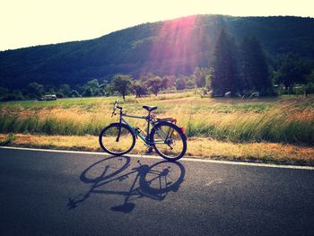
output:
<path id="1" fill-rule="evenodd" d="M 157 124 L 152 131 L 153 148 L 168 161 L 177 161 L 187 152 L 187 137 L 170 122 Z"/>

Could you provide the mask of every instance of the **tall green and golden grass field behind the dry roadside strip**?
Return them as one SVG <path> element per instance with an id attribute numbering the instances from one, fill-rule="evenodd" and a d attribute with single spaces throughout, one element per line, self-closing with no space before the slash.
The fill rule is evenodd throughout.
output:
<path id="1" fill-rule="evenodd" d="M 118 97 L 11 101 L 0 103 L 0 133 L 98 135 L 114 122 L 112 103 Z M 314 99 L 202 99 L 194 92 L 120 100 L 129 114 L 145 115 L 144 104 L 156 105 L 158 117 L 174 117 L 189 137 L 217 140 L 314 144 Z M 132 123 L 133 122 L 133 123 Z M 144 123 L 131 120 L 144 127 Z"/>

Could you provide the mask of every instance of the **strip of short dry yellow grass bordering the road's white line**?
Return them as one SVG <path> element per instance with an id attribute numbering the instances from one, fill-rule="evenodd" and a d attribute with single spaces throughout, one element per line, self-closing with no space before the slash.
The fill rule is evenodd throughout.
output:
<path id="1" fill-rule="evenodd" d="M 8 140 L 10 142 L 8 142 Z M 1 145 L 64 149 L 79 151 L 101 151 L 98 136 L 94 135 L 7 135 L 0 134 Z M 146 147 L 137 142 L 132 153 L 146 154 Z M 153 153 L 155 154 L 155 153 Z M 187 157 L 202 159 L 271 162 L 314 166 L 314 148 L 293 144 L 245 143 L 234 144 L 209 138 L 188 139 Z"/>

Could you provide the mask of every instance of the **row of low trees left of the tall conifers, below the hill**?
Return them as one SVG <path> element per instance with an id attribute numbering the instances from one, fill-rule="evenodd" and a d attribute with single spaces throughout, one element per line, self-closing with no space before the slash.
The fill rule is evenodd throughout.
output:
<path id="1" fill-rule="evenodd" d="M 22 90 L 9 90 L 0 87 L 0 101 L 37 100 L 47 94 L 56 94 L 57 98 L 76 98 L 111 96 L 120 94 L 124 99 L 127 94 L 133 93 L 136 97 L 149 94 L 157 96 L 161 90 L 185 90 L 204 87 L 209 71 L 207 68 L 196 67 L 190 75 L 163 75 L 143 74 L 134 78 L 130 74 L 115 74 L 111 80 L 91 79 L 87 83 L 71 86 L 62 83 L 58 86 L 29 83 Z"/>

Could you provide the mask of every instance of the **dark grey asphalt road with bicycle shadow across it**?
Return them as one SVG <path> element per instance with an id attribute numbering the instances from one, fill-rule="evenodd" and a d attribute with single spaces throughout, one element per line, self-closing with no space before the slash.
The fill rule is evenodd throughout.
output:
<path id="1" fill-rule="evenodd" d="M 1 235 L 314 234 L 314 170 L 0 148 L 0 189 Z"/>

